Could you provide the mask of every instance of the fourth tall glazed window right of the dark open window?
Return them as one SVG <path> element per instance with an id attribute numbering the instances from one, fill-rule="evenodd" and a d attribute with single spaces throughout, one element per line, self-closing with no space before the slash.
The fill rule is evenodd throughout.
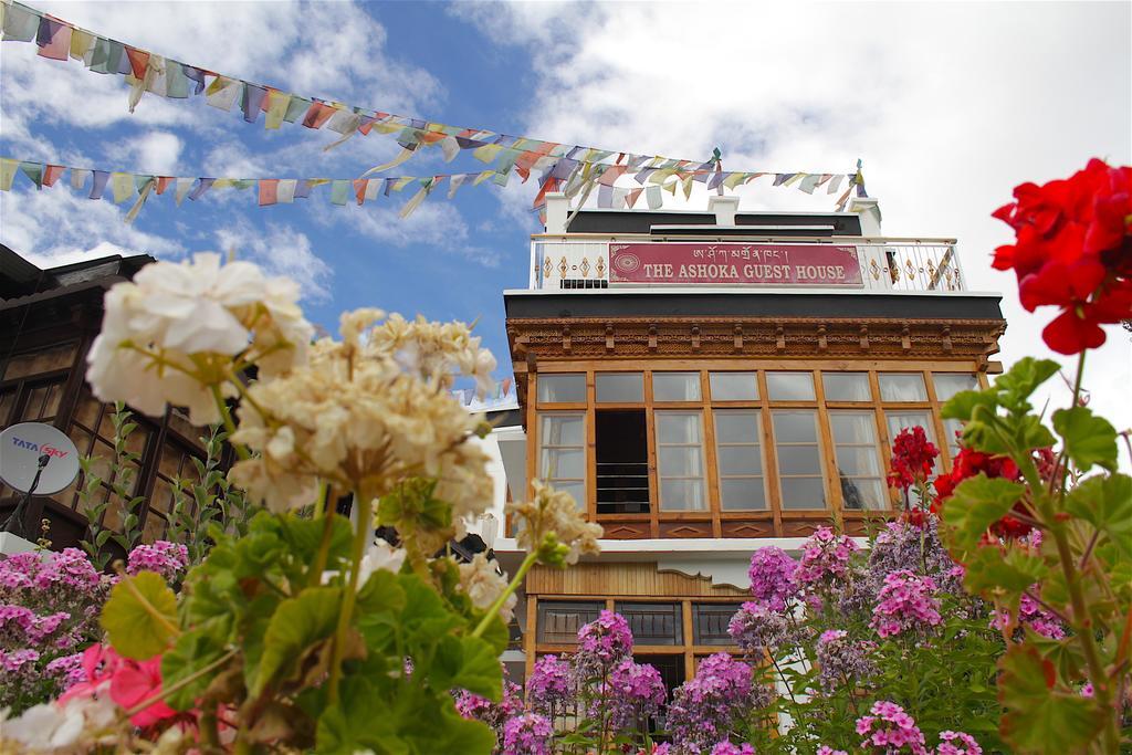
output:
<path id="1" fill-rule="evenodd" d="M 873 412 L 830 412 L 842 506 L 847 509 L 887 508 L 884 467 L 876 446 Z"/>

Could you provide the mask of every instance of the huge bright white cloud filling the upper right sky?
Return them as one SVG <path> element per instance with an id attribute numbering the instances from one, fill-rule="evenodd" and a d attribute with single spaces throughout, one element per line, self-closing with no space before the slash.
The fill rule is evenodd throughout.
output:
<path id="1" fill-rule="evenodd" d="M 1092 155 L 1132 161 L 1127 3 L 457 3 L 537 77 L 525 132 L 731 170 L 848 172 L 865 161 L 889 235 L 958 237 L 969 288 L 1004 292 L 1000 358 L 1053 357 L 989 267 L 1009 229 L 989 213 L 1023 181 Z M 503 194 L 530 206 L 529 187 Z M 743 209 L 832 208 L 825 195 L 741 192 Z M 704 206 L 703 194 L 693 205 Z M 1072 370 L 1070 370 L 1072 371 Z M 1094 406 L 1124 418 L 1129 335 L 1090 355 Z M 1063 392 L 1061 392 L 1063 393 Z M 1064 396 L 1057 398 L 1061 405 Z M 1117 422 L 1120 423 L 1120 422 Z"/>

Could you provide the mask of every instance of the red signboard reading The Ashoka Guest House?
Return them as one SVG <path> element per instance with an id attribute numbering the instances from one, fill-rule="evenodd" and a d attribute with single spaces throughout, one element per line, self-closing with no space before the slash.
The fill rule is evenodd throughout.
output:
<path id="1" fill-rule="evenodd" d="M 609 282 L 863 285 L 857 250 L 827 243 L 612 243 Z"/>

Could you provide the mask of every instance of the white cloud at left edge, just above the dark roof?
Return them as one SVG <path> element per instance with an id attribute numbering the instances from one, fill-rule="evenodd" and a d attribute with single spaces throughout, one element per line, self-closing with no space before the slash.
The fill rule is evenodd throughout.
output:
<path id="1" fill-rule="evenodd" d="M 92 201 L 58 185 L 42 191 L 5 191 L 0 194 L 0 241 L 40 267 L 108 255 L 175 257 L 185 252 L 177 240 L 123 223 L 123 207 L 128 208 Z"/>

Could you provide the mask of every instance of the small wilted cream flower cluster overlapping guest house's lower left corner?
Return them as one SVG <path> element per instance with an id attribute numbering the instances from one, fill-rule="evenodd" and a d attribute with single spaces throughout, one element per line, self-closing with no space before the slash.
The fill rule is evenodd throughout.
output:
<path id="1" fill-rule="evenodd" d="M 518 546 L 535 552 L 539 563 L 564 567 L 577 563 L 582 554 L 601 552 L 600 524 L 585 521 L 574 498 L 534 480 L 534 499 L 508 504 L 507 513 L 518 520 Z"/>

